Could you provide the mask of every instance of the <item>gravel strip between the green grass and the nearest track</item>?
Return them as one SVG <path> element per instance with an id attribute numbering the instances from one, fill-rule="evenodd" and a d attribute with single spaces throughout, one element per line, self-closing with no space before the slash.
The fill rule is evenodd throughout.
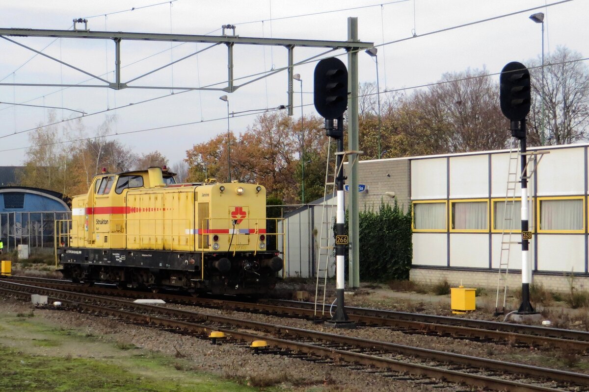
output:
<path id="1" fill-rule="evenodd" d="M 29 304 L 2 301 L 2 307 L 31 308 Z M 325 391 L 453 391 L 455 388 L 432 388 L 428 385 L 394 381 L 386 377 L 348 370 L 337 366 L 314 364 L 274 354 L 254 356 L 250 349 L 234 344 L 213 346 L 210 341 L 156 330 L 149 327 L 121 323 L 104 317 L 94 317 L 71 311 L 36 309 L 35 317 L 42 317 L 65 328 L 75 328 L 100 336 L 103 340 L 132 343 L 147 350 L 169 356 L 181 353 L 194 361 L 194 367 L 227 378 L 279 381 L 277 385 L 289 391 L 307 391 L 320 386 Z M 274 381 L 273 381 L 274 380 Z M 264 381 L 262 381 L 264 382 Z M 464 388 L 460 388 L 464 390 Z M 317 390 L 317 389 L 313 389 Z"/>

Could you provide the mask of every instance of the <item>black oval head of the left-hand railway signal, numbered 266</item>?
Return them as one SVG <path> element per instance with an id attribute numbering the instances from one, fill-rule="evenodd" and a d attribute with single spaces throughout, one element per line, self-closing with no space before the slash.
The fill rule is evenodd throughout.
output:
<path id="1" fill-rule="evenodd" d="M 340 59 L 323 59 L 315 66 L 315 109 L 326 119 L 337 119 L 348 108 L 348 69 Z"/>

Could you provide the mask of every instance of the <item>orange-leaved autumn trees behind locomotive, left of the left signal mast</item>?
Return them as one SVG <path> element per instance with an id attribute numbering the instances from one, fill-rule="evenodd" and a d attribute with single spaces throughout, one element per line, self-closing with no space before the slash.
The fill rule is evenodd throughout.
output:
<path id="1" fill-rule="evenodd" d="M 315 116 L 303 119 L 305 130 L 305 188 L 313 200 L 317 195 L 317 178 L 323 180 L 318 167 L 325 165 L 325 130 L 323 120 Z M 298 203 L 301 199 L 302 128 L 300 118 L 285 113 L 264 113 L 256 118 L 239 136 L 231 135 L 231 179 L 241 182 L 260 183 L 268 195 L 286 203 Z M 186 152 L 189 166 L 188 180 L 203 181 L 214 177 L 226 181 L 227 135 L 217 135 L 208 142 L 195 145 Z M 312 165 L 319 160 L 323 165 Z M 307 169 L 307 167 L 309 169 Z M 323 169 L 325 170 L 325 169 Z M 323 184 L 320 184 L 322 193 Z"/>

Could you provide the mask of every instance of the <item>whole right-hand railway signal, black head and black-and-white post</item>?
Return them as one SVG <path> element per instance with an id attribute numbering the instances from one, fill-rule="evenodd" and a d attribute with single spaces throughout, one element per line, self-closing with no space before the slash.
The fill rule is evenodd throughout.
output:
<path id="1" fill-rule="evenodd" d="M 519 139 L 521 159 L 521 305 L 518 314 L 532 314 L 530 303 L 531 264 L 528 250 L 532 233 L 528 222 L 528 173 L 525 117 L 530 113 L 530 72 L 517 61 L 505 65 L 499 77 L 501 111 L 511 120 L 511 136 Z"/>

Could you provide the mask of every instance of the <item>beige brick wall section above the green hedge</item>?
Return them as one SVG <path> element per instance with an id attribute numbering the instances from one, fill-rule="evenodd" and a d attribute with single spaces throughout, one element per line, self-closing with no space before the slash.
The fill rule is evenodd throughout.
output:
<path id="1" fill-rule="evenodd" d="M 403 210 L 406 211 L 411 204 L 409 200 L 410 168 L 409 159 L 404 158 L 360 161 L 358 182 L 368 186 L 368 192 L 362 192 L 358 197 L 360 210 L 378 211 L 381 199 L 392 205 L 393 198 L 386 195 L 386 192 L 395 192 L 399 206 L 403 206 Z M 347 176 L 347 164 L 344 170 Z M 348 199 L 349 197 L 346 197 L 346 206 Z"/>

